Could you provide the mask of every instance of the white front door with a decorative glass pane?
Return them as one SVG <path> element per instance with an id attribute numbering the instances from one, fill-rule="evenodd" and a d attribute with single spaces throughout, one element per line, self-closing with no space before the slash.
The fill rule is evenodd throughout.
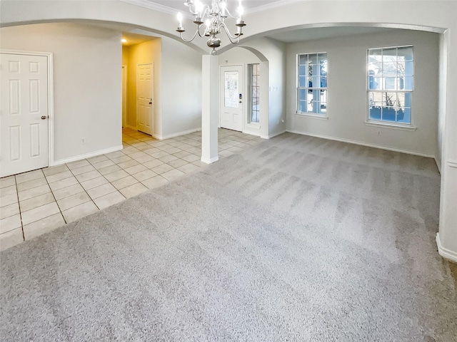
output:
<path id="1" fill-rule="evenodd" d="M 221 67 L 221 128 L 243 131 L 243 66 Z"/>

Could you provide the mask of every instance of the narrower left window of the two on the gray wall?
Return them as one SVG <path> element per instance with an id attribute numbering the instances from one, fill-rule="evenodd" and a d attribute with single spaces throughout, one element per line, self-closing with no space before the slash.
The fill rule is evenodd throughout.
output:
<path id="1" fill-rule="evenodd" d="M 303 53 L 298 58 L 297 113 L 327 113 L 327 53 Z"/>

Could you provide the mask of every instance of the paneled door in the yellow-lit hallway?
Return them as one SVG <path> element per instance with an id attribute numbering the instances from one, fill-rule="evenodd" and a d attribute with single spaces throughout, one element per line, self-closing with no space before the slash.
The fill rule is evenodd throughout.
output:
<path id="1" fill-rule="evenodd" d="M 152 63 L 136 66 L 136 129 L 152 135 L 154 115 L 154 66 Z"/>

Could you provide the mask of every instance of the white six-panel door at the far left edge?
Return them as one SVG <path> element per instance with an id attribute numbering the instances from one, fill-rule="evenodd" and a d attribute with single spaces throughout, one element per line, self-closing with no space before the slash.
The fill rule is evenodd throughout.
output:
<path id="1" fill-rule="evenodd" d="M 48 58 L 0 53 L 0 177 L 49 165 Z"/>

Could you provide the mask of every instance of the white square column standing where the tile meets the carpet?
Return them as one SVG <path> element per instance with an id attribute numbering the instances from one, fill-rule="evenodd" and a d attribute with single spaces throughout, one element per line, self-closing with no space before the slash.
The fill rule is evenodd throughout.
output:
<path id="1" fill-rule="evenodd" d="M 201 161 L 217 162 L 219 125 L 219 62 L 217 56 L 204 55 L 201 68 Z"/>

